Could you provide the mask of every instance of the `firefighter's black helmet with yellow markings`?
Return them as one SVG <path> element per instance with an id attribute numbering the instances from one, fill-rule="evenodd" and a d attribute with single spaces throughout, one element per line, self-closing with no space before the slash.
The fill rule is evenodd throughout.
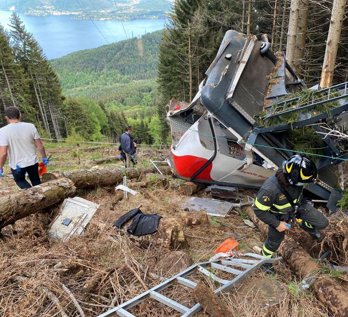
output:
<path id="1" fill-rule="evenodd" d="M 318 177 L 315 163 L 302 155 L 291 156 L 283 162 L 282 168 L 290 184 L 313 183 Z"/>

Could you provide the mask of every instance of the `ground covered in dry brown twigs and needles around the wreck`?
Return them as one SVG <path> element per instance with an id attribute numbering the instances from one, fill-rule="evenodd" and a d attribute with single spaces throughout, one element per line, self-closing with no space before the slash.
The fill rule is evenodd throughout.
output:
<path id="1" fill-rule="evenodd" d="M 116 149 L 98 148 L 94 151 L 82 151 L 68 146 L 46 145 L 48 155 L 53 154 L 49 171 L 90 168 L 86 161 L 105 156 L 118 155 Z M 167 151 L 138 149 L 140 166 L 150 166 L 149 160 L 167 158 Z M 103 168 L 117 168 L 122 162 L 109 162 Z M 79 190 L 77 196 L 91 200 L 100 205 L 90 221 L 83 236 L 74 236 L 67 242 L 51 241 L 47 228 L 54 218 L 59 206 L 48 208 L 41 213 L 31 215 L 2 230 L 0 237 L 0 314 L 2 316 L 98 316 L 102 312 L 117 306 L 142 293 L 144 286 L 151 288 L 167 278 L 176 270 L 168 269 L 163 258 L 168 249 L 150 245 L 144 248 L 125 231 L 112 227 L 121 215 L 142 204 L 143 213 L 157 213 L 163 218 L 175 218 L 183 224 L 183 209 L 179 203 L 187 199 L 179 190 L 180 180 L 169 177 L 168 181 L 151 180 L 145 188 L 136 189 L 139 193 L 129 195 L 128 199 L 115 201 L 114 187 Z M 0 190 L 16 191 L 12 178 L 1 180 Z M 250 194 L 253 194 L 252 192 Z M 205 196 L 200 191 L 198 196 Z M 252 236 L 239 243 L 240 252 L 254 252 L 253 246 L 262 246 L 263 240 L 256 229 L 231 229 L 221 225 L 223 221 L 232 227 L 245 226 L 243 210 L 232 210 L 227 218 L 209 217 L 209 224 L 191 227 L 183 226 L 188 245 L 180 251 L 187 253 L 194 263 L 208 260 L 214 250 L 229 236 Z M 297 234 L 295 228 L 292 234 Z M 299 235 L 299 238 L 301 235 Z M 302 237 L 307 241 L 308 249 L 316 255 L 320 253 L 320 243 L 310 243 L 308 235 Z M 313 242 L 313 241 L 312 241 Z M 171 250 L 172 251 L 172 250 Z M 130 269 L 131 267 L 132 269 Z M 278 274 L 272 279 L 279 281 L 287 291 L 283 302 L 270 308 L 260 308 L 258 293 L 241 296 L 238 286 L 222 297 L 234 317 L 248 316 L 329 316 L 325 307 L 318 302 L 310 290 L 297 291 L 295 275 L 284 261 L 275 264 Z M 140 276 L 145 285 L 134 274 Z M 262 278 L 266 274 L 257 269 L 251 277 Z M 197 276 L 207 285 L 216 287 L 212 281 Z M 345 282 L 346 276 L 337 276 Z M 94 283 L 93 283 L 94 281 Z M 88 284 L 89 283 L 89 284 Z M 241 282 L 243 283 L 243 282 Z M 86 285 L 93 285 L 84 293 Z M 195 301 L 192 290 L 186 286 L 170 286 L 164 295 L 192 306 Z M 181 313 L 146 300 L 130 310 L 136 316 L 180 316 Z M 197 314 L 205 316 L 204 312 Z"/>

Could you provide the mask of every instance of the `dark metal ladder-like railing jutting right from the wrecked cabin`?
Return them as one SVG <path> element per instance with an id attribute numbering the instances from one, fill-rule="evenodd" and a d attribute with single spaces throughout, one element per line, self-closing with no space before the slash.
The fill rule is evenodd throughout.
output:
<path id="1" fill-rule="evenodd" d="M 333 91 L 332 91 L 333 90 Z M 325 96 L 325 100 L 321 100 L 321 101 L 316 101 L 315 100 L 315 95 L 317 94 L 321 94 L 321 93 L 326 93 L 327 95 Z M 337 93 L 340 94 L 340 96 L 337 96 Z M 275 113 L 270 113 L 268 115 L 266 115 L 264 117 L 264 119 L 270 119 L 270 118 L 274 118 L 274 117 L 277 117 L 279 121 L 281 121 L 281 119 L 279 118 L 279 116 L 281 115 L 285 115 L 285 114 L 289 114 L 289 113 L 292 113 L 292 112 L 296 112 L 296 111 L 302 111 L 302 110 L 310 110 L 311 108 L 315 107 L 315 106 L 318 106 L 318 105 L 322 105 L 322 104 L 325 104 L 327 102 L 331 102 L 331 101 L 334 101 L 334 100 L 339 100 L 339 99 L 343 99 L 343 98 L 346 98 L 348 97 L 348 82 L 345 82 L 345 83 L 342 83 L 342 84 L 338 84 L 338 85 L 335 85 L 335 86 L 331 86 L 329 88 L 325 88 L 325 89 L 321 89 L 321 90 L 318 90 L 315 92 L 315 95 L 313 96 L 313 99 L 312 101 L 310 101 L 309 103 L 301 106 L 301 107 L 298 107 L 298 108 L 294 108 L 294 109 L 289 109 L 289 110 L 281 110 L 281 111 L 278 111 L 278 112 L 275 112 Z M 332 97 L 333 95 L 333 97 Z M 323 97 L 321 97 L 323 98 Z M 320 98 L 320 99 L 321 99 Z M 298 101 L 300 102 L 301 101 L 301 96 L 299 97 L 296 97 L 296 98 L 292 98 L 292 99 L 289 99 L 289 100 L 284 100 L 282 102 L 278 102 L 278 103 L 275 103 L 275 104 L 272 104 L 268 107 L 265 107 L 266 111 L 270 110 L 271 108 L 275 107 L 275 108 L 282 108 L 282 109 L 285 109 L 285 106 L 287 103 L 289 102 L 293 102 L 293 101 Z"/>

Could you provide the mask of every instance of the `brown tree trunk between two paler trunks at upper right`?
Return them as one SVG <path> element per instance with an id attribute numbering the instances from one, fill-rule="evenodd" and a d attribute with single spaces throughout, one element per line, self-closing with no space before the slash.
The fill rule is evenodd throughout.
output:
<path id="1" fill-rule="evenodd" d="M 307 28 L 308 28 L 308 16 L 309 16 L 309 0 L 301 1 L 301 9 L 299 12 L 298 20 L 298 33 L 296 39 L 297 46 L 297 56 L 295 57 L 295 73 L 297 75 L 303 74 L 303 57 L 304 57 L 304 48 L 306 46 L 307 38 Z"/>

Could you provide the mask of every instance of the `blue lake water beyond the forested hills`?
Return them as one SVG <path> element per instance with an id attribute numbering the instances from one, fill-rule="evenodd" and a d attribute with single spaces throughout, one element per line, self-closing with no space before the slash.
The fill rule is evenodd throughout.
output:
<path id="1" fill-rule="evenodd" d="M 0 10 L 0 24 L 9 29 L 10 11 Z M 74 16 L 36 17 L 20 15 L 28 32 L 33 33 L 48 59 L 92 49 L 164 28 L 164 20 L 93 21 L 73 20 Z M 124 27 L 124 29 L 123 29 Z M 126 37 L 127 35 L 127 37 Z"/>

